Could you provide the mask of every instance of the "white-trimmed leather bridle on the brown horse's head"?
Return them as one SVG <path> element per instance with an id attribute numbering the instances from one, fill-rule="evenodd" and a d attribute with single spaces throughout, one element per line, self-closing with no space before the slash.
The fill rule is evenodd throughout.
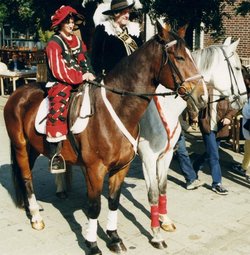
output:
<path id="1" fill-rule="evenodd" d="M 163 67 L 167 63 L 169 63 L 170 69 L 172 70 L 172 76 L 173 76 L 173 80 L 174 80 L 174 84 L 175 84 L 176 94 L 179 95 L 180 97 L 184 98 L 184 99 L 188 99 L 188 98 L 192 97 L 191 94 L 192 94 L 192 91 L 193 91 L 194 87 L 191 87 L 191 89 L 187 89 L 184 86 L 184 83 L 189 82 L 189 81 L 193 81 L 193 80 L 202 79 L 202 75 L 201 74 L 196 74 L 196 75 L 188 77 L 186 79 L 184 79 L 182 77 L 182 75 L 181 75 L 179 69 L 177 68 L 177 66 L 168 57 L 167 50 L 170 47 L 174 46 L 175 44 L 177 44 L 177 40 L 170 41 L 170 42 L 164 44 L 163 47 L 162 47 L 166 60 L 164 61 L 164 58 L 162 58 L 162 63 L 161 63 L 161 67 L 160 67 L 160 71 L 159 71 L 159 74 L 158 74 L 157 81 L 159 81 L 159 78 L 160 78 L 161 71 L 162 71 Z M 177 78 L 180 82 L 177 82 Z"/>

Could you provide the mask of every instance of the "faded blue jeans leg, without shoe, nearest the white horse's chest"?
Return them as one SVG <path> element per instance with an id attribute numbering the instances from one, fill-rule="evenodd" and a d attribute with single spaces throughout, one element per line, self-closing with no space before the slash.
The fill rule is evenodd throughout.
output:
<path id="1" fill-rule="evenodd" d="M 184 175 L 186 182 L 193 182 L 197 179 L 197 174 L 193 169 L 193 165 L 189 158 L 189 154 L 186 148 L 186 141 L 184 135 L 181 133 L 179 140 L 177 142 L 176 151 L 178 161 L 180 164 L 181 171 Z"/>

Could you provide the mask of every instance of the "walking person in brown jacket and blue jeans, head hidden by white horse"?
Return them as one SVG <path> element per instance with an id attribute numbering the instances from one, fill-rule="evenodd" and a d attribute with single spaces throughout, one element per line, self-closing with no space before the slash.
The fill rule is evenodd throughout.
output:
<path id="1" fill-rule="evenodd" d="M 227 195 L 228 190 L 222 185 L 222 173 L 219 157 L 221 139 L 229 136 L 229 126 L 239 110 L 233 109 L 228 98 L 216 96 L 213 89 L 209 89 L 208 106 L 200 111 L 198 122 L 203 137 L 206 154 L 195 159 L 193 167 L 196 173 L 202 168 L 205 159 L 209 164 L 212 175 L 212 191 L 219 195 Z"/>

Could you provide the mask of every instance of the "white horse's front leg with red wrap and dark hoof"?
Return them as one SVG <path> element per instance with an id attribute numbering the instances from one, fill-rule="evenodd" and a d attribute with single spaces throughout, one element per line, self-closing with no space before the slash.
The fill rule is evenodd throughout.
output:
<path id="1" fill-rule="evenodd" d="M 159 222 L 159 190 L 158 190 L 158 176 L 156 171 L 156 159 L 143 153 L 142 154 L 142 169 L 146 186 L 148 190 L 148 201 L 150 204 L 151 230 L 153 238 L 151 244 L 157 249 L 164 249 L 167 247 L 160 229 Z"/>

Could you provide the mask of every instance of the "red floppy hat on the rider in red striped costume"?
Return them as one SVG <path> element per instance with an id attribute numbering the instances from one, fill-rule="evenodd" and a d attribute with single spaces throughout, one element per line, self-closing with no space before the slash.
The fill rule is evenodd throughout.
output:
<path id="1" fill-rule="evenodd" d="M 72 15 L 76 18 L 75 24 L 79 25 L 83 22 L 84 17 L 79 14 L 74 8 L 70 6 L 62 5 L 58 10 L 56 10 L 55 14 L 51 16 L 51 29 L 57 27 L 61 22 L 67 18 L 67 16 Z"/>

